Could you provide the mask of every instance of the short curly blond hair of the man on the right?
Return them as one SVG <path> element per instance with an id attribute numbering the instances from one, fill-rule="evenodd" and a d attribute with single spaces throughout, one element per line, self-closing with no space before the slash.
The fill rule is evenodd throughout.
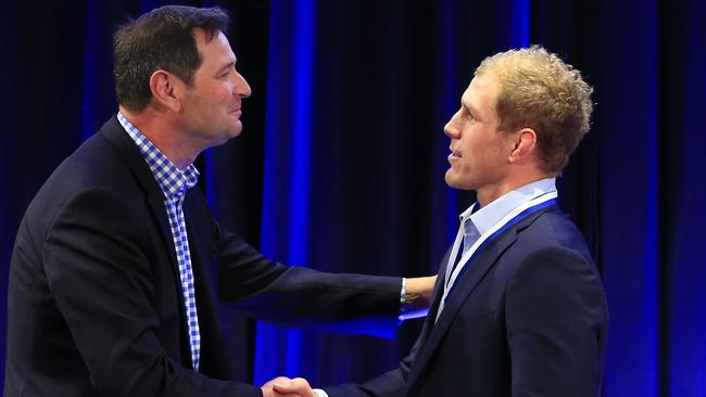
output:
<path id="1" fill-rule="evenodd" d="M 532 128 L 540 167 L 559 174 L 590 129 L 593 89 L 581 73 L 540 46 L 489 56 L 476 69 L 483 73 L 500 80 L 500 130 Z"/>

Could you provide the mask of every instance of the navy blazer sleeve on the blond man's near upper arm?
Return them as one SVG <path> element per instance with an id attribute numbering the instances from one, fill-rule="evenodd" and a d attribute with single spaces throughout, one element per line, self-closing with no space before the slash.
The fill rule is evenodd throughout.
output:
<path id="1" fill-rule="evenodd" d="M 506 291 L 513 396 L 596 396 L 607 326 L 593 264 L 563 247 L 528 256 Z"/>

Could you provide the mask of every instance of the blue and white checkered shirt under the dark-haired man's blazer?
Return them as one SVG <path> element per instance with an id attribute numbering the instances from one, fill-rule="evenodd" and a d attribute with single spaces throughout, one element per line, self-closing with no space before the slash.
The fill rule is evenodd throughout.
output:
<path id="1" fill-rule="evenodd" d="M 160 152 L 159 149 L 142 132 L 118 112 L 117 119 L 140 149 L 142 157 L 150 166 L 154 179 L 164 192 L 164 206 L 166 207 L 177 262 L 179 264 L 179 278 L 181 279 L 181 293 L 187 313 L 187 331 L 191 347 L 191 363 L 199 370 L 199 355 L 201 351 L 201 334 L 199 332 L 199 317 L 197 316 L 197 300 L 193 289 L 193 271 L 191 270 L 191 255 L 189 254 L 189 239 L 187 238 L 186 222 L 184 221 L 184 195 L 197 184 L 199 171 L 189 165 L 181 170 Z"/>

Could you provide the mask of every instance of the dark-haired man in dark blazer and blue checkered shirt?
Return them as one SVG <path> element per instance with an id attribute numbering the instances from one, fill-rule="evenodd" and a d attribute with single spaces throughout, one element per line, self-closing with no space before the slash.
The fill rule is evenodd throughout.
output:
<path id="1" fill-rule="evenodd" d="M 119 112 L 56 168 L 17 232 L 4 396 L 268 396 L 231 380 L 216 294 L 265 320 L 351 326 L 393 326 L 401 300 L 430 295 L 433 278 L 270 261 L 212 218 L 192 163 L 240 133 L 250 95 L 227 25 L 217 8 L 164 7 L 116 33 Z"/>

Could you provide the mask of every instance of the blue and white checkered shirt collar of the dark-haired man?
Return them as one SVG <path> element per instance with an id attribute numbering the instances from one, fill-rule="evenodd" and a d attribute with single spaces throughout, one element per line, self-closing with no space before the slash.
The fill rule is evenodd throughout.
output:
<path id="1" fill-rule="evenodd" d="M 117 113 L 117 120 L 140 150 L 142 158 L 167 198 L 178 198 L 197 184 L 199 170 L 193 164 L 189 164 L 185 169 L 179 169 L 121 112 Z"/>

